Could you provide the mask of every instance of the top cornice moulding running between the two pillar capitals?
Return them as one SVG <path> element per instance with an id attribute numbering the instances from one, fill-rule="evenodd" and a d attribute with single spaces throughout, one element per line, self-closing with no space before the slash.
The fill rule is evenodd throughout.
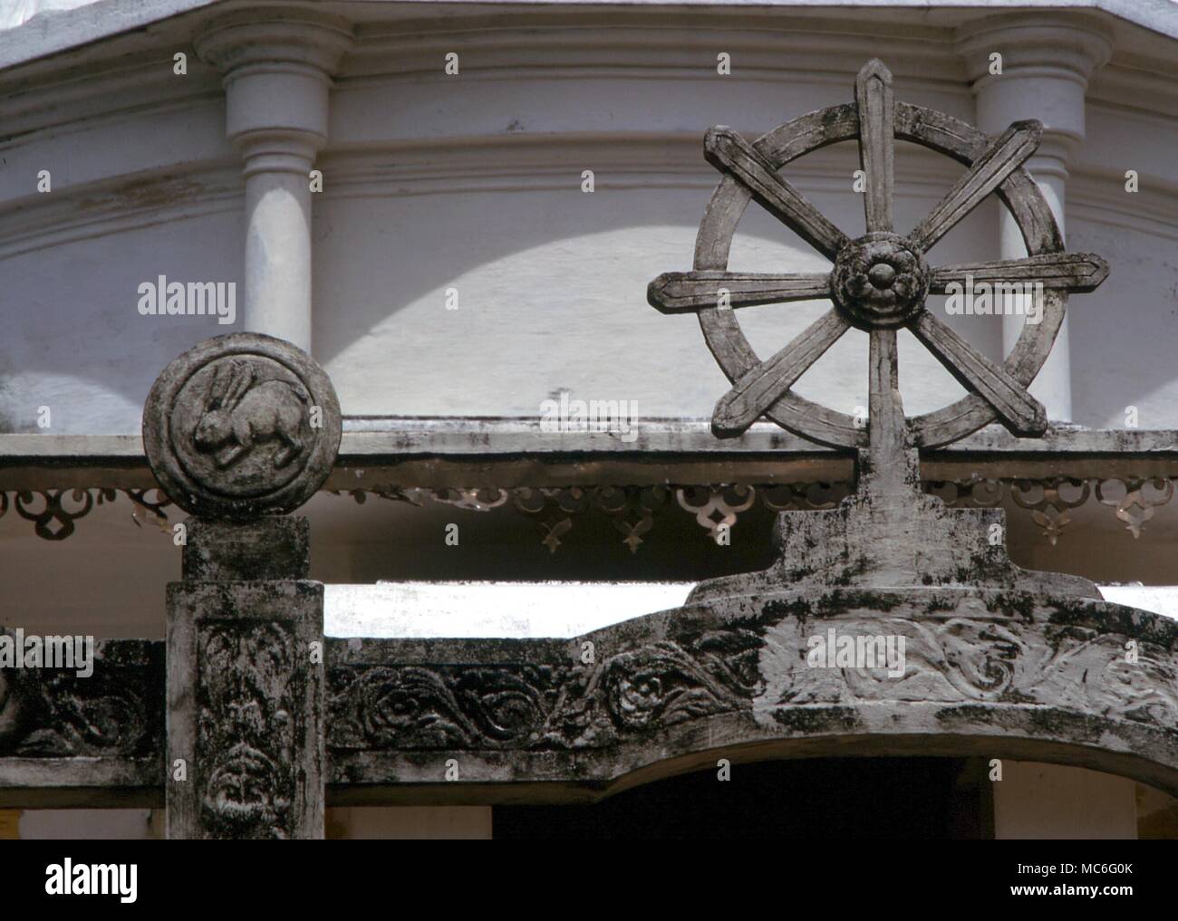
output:
<path id="1" fill-rule="evenodd" d="M 624 16 L 565 11 L 560 15 L 463 16 L 410 20 L 357 29 L 357 44 L 340 68 L 340 79 L 435 74 L 446 52 L 458 52 L 463 73 L 543 68 L 545 75 L 610 73 L 667 75 L 681 69 L 714 72 L 719 51 L 733 57 L 742 78 L 786 73 L 838 74 L 856 71 L 880 53 L 900 78 L 964 80 L 953 47 L 954 32 L 932 26 L 855 24 L 821 19 L 769 20 L 744 11 L 721 19 L 691 11 L 668 19 L 647 9 Z"/>

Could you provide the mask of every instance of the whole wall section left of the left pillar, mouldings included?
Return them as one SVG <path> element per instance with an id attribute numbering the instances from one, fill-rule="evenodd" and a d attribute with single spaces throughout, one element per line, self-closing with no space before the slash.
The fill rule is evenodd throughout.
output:
<path id="1" fill-rule="evenodd" d="M 140 283 L 160 274 L 239 289 L 243 274 L 224 104 L 207 74 L 174 77 L 168 61 L 108 74 L 105 97 L 75 99 L 68 80 L 46 80 L 39 101 L 0 97 L 14 128 L 0 141 L 0 431 L 137 432 L 160 369 L 240 329 L 138 312 Z"/>

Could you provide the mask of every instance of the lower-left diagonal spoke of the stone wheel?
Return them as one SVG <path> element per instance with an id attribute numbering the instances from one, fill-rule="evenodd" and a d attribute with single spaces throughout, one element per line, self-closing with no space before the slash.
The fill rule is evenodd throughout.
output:
<path id="1" fill-rule="evenodd" d="M 743 432 L 848 329 L 851 324 L 832 310 L 767 362 L 749 369 L 716 404 L 712 430 L 722 438 Z"/>

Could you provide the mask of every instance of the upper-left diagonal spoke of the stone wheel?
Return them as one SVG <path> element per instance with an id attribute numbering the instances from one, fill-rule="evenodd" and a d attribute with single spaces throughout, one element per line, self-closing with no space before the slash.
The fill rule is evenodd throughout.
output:
<path id="1" fill-rule="evenodd" d="M 703 138 L 703 155 L 717 170 L 747 186 L 770 214 L 828 259 L 833 260 L 846 245 L 846 234 L 777 175 L 773 165 L 732 128 L 717 125 L 709 130 Z"/>

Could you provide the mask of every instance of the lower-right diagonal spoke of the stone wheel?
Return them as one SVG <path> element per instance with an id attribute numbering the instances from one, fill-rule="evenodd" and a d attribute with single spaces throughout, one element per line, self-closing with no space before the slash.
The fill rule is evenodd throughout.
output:
<path id="1" fill-rule="evenodd" d="M 927 310 L 911 329 L 961 386 L 994 408 L 1014 435 L 1038 437 L 1047 430 L 1047 412 L 1043 404 L 1002 367 L 977 351 Z"/>

